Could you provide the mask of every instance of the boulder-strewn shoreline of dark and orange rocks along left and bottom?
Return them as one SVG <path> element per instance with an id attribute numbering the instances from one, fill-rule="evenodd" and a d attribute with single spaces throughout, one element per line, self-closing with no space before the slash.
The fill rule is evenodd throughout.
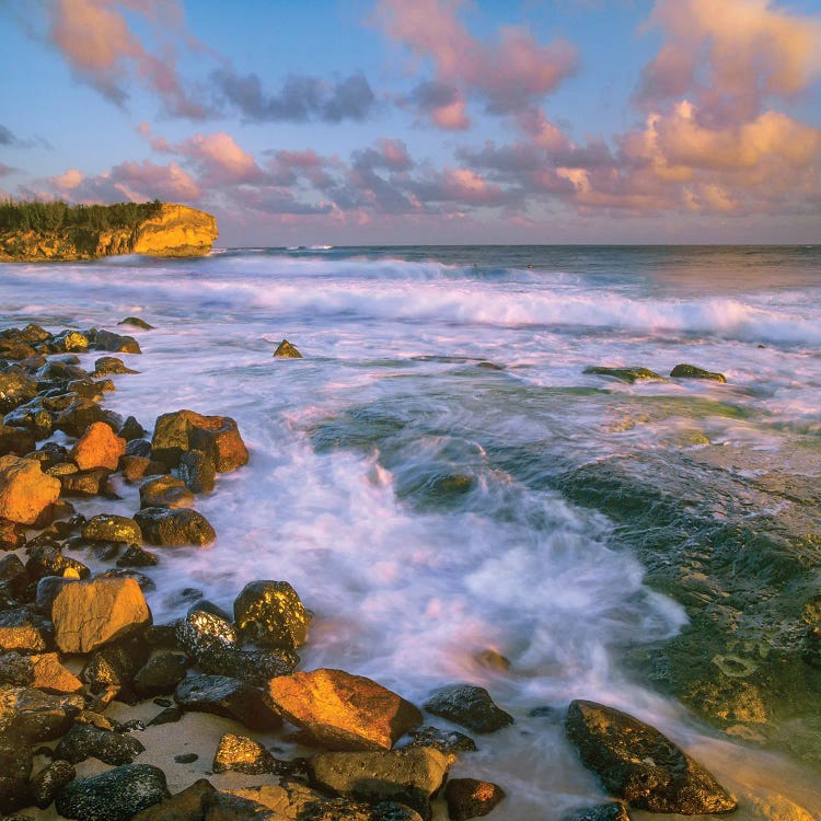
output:
<path id="1" fill-rule="evenodd" d="M 91 372 L 77 357 L 89 350 L 101 354 Z M 241 470 L 248 452 L 229 417 L 174 410 L 149 437 L 135 417 L 105 409 L 112 377 L 134 372 L 114 355 L 139 352 L 135 337 L 103 329 L 0 333 L 0 812 L 23 818 L 54 805 L 81 821 L 505 818 L 505 785 L 448 777 L 476 749 L 453 726 L 483 735 L 516 721 L 486 690 L 454 682 L 415 705 L 344 670 L 300 670 L 312 614 L 286 580 L 248 582 L 232 613 L 192 595 L 173 623 L 153 623 L 141 568 L 177 545 L 215 541 L 197 495 L 219 492 L 219 475 Z M 132 517 L 106 510 L 115 474 L 139 490 Z M 72 498 L 99 501 L 99 512 L 77 513 Z M 94 575 L 70 554 L 112 566 Z M 139 763 L 151 758 L 141 739 L 190 714 L 219 737 L 208 753 L 213 778 L 172 796 L 165 772 Z M 578 701 L 565 728 L 616 799 L 568 821 L 623 820 L 631 808 L 736 809 L 704 767 L 632 716 Z M 177 764 L 196 760 L 183 733 L 165 739 Z M 305 754 L 282 756 L 293 743 Z M 108 767 L 89 774 L 89 761 Z M 227 774 L 255 780 L 235 786 Z"/>

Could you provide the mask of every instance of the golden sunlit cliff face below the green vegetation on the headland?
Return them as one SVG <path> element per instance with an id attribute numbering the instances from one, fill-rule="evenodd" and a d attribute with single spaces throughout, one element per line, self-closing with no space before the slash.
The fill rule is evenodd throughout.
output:
<path id="1" fill-rule="evenodd" d="M 217 220 L 210 213 L 162 205 L 157 216 L 134 229 L 68 228 L 0 234 L 0 262 L 67 262 L 117 254 L 205 256 L 217 233 Z"/>

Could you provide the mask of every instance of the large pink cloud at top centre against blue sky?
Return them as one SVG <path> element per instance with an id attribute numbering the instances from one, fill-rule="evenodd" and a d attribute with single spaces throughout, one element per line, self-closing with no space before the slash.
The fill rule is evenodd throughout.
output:
<path id="1" fill-rule="evenodd" d="M 465 100 L 471 94 L 488 112 L 510 114 L 541 100 L 575 71 L 577 53 L 570 43 L 543 46 L 514 26 L 500 28 L 496 43 L 482 42 L 458 19 L 463 5 L 464 0 L 380 0 L 377 7 L 389 37 L 432 61 L 440 89 L 417 92 L 428 99 L 424 108 L 441 128 L 467 126 Z M 449 88 L 450 99 L 437 99 Z M 424 103 L 419 93 L 412 96 Z"/>

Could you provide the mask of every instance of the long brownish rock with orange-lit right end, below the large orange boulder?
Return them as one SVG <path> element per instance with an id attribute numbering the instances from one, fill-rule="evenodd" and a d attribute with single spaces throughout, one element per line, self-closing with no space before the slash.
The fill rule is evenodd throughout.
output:
<path id="1" fill-rule="evenodd" d="M 371 802 L 398 801 L 425 819 L 447 773 L 448 759 L 426 748 L 320 753 L 308 761 L 314 787 Z"/>

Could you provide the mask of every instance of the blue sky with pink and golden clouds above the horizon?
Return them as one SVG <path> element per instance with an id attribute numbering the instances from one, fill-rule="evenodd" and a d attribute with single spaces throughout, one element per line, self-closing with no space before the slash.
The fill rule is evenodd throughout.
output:
<path id="1" fill-rule="evenodd" d="M 0 0 L 0 197 L 220 246 L 821 242 L 821 0 Z"/>

